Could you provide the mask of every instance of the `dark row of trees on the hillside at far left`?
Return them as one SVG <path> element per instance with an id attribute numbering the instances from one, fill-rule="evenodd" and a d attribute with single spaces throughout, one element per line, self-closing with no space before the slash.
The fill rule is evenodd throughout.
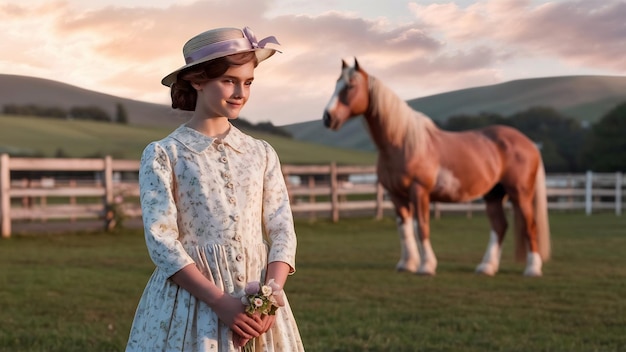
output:
<path id="1" fill-rule="evenodd" d="M 128 124 L 128 113 L 123 104 L 115 105 L 115 116 L 99 106 L 74 106 L 64 109 L 58 106 L 41 106 L 37 104 L 6 104 L 2 112 L 5 115 L 35 116 L 53 119 L 90 120 Z"/>

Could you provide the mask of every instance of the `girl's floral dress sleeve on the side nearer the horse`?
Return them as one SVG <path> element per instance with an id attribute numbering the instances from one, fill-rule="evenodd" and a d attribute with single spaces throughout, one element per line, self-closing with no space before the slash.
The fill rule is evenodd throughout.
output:
<path id="1" fill-rule="evenodd" d="M 289 264 L 290 273 L 296 268 L 296 231 L 293 224 L 289 194 L 278 155 L 263 141 L 267 163 L 263 179 L 263 232 L 270 243 L 268 263 Z"/>

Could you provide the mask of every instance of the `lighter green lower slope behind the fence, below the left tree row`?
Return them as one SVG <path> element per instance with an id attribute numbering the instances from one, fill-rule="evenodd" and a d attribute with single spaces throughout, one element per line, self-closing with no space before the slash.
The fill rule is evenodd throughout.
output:
<path id="1" fill-rule="evenodd" d="M 53 157 L 111 155 L 138 160 L 146 145 L 167 136 L 170 127 L 119 125 L 94 121 L 43 119 L 0 115 L 0 153 Z M 321 144 L 299 142 L 269 134 L 251 133 L 267 140 L 283 164 L 373 165 L 376 154 Z"/>

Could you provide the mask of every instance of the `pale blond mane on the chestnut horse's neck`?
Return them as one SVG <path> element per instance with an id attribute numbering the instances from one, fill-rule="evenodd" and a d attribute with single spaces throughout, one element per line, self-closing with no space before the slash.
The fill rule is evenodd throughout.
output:
<path id="1" fill-rule="evenodd" d="M 413 110 L 373 76 L 369 76 L 369 93 L 368 114 L 378 116 L 381 132 L 385 133 L 384 139 L 406 151 L 421 153 L 426 146 L 429 130 L 436 129 L 433 121 Z"/>

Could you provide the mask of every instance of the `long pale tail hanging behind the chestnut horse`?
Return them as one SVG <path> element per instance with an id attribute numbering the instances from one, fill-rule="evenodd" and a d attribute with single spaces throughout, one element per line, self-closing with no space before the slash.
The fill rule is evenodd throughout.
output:
<path id="1" fill-rule="evenodd" d="M 537 225 L 537 243 L 541 260 L 550 259 L 550 223 L 548 221 L 548 198 L 546 192 L 546 171 L 539 161 L 535 179 L 535 224 Z"/>

